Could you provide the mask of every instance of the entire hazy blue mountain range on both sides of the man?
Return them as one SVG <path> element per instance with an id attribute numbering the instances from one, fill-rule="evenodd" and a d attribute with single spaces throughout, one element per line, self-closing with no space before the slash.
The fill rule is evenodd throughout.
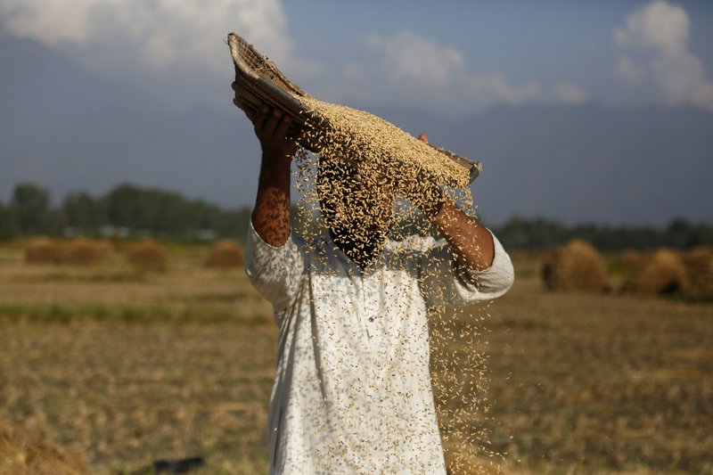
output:
<path id="1" fill-rule="evenodd" d="M 254 199 L 259 147 L 241 111 L 181 111 L 30 40 L 0 37 L 0 63 L 0 201 L 20 181 L 48 187 L 55 200 L 125 182 L 230 207 Z M 494 224 L 513 215 L 713 222 L 709 111 L 527 105 L 456 120 L 418 109 L 365 109 L 482 161 L 472 190 Z"/>

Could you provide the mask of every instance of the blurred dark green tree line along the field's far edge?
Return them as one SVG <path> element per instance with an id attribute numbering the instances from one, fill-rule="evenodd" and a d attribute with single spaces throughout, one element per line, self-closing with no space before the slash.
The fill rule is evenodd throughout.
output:
<path id="1" fill-rule="evenodd" d="M 293 213 L 293 216 L 296 213 Z M 181 241 L 231 238 L 243 242 L 250 208 L 223 209 L 178 192 L 120 184 L 92 196 L 70 192 L 53 207 L 50 192 L 32 183 L 17 184 L 8 203 L 0 202 L 0 239 L 20 236 L 152 236 Z M 583 239 L 599 250 L 691 249 L 713 246 L 713 225 L 676 218 L 662 227 L 563 225 L 545 218 L 512 217 L 492 226 L 506 249 L 545 250 Z"/>

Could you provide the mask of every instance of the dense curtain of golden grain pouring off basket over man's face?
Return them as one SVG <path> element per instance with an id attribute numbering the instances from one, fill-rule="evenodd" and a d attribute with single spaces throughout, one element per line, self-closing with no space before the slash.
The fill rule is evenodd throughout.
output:
<path id="1" fill-rule="evenodd" d="M 299 96 L 307 108 L 298 156 L 299 217 L 311 238 L 324 229 L 348 235 L 349 258 L 365 267 L 389 236 L 433 233 L 419 208 L 454 198 L 474 215 L 461 165 L 388 121 L 365 111 Z M 458 186 L 441 185 L 462 176 Z M 309 221 L 322 218 L 321 225 Z"/>

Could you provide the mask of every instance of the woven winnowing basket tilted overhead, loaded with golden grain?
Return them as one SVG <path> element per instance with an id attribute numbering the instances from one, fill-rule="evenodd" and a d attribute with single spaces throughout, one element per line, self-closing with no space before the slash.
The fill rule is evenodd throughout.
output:
<path id="1" fill-rule="evenodd" d="M 305 93 L 242 37 L 229 34 L 228 45 L 235 66 L 235 105 L 241 109 L 256 109 L 263 103 L 279 107 L 295 124 L 291 134 L 300 135 L 300 144 L 308 150 L 352 165 L 370 160 L 387 174 L 387 169 L 397 168 L 407 178 L 435 184 L 463 187 L 478 176 L 479 163 L 422 143 L 372 114 Z M 300 134 L 305 129 L 307 133 Z"/>

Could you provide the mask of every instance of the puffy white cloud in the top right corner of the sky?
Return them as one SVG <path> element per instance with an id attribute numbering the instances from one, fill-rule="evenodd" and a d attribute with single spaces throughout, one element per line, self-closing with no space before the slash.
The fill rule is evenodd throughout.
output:
<path id="1" fill-rule="evenodd" d="M 690 22 L 678 5 L 655 0 L 634 12 L 614 40 L 622 51 L 619 77 L 630 83 L 651 81 L 668 104 L 713 110 L 713 82 L 688 49 Z"/>

